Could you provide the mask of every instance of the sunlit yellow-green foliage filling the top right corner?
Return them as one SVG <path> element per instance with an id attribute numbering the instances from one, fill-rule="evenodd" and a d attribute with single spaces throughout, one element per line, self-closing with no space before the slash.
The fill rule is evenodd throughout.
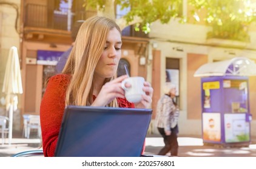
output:
<path id="1" fill-rule="evenodd" d="M 206 11 L 203 18 L 212 31 L 208 38 L 231 39 L 249 41 L 248 27 L 256 21 L 255 0 L 189 0 L 194 10 L 192 15 L 196 20 L 200 19 L 198 12 Z"/>

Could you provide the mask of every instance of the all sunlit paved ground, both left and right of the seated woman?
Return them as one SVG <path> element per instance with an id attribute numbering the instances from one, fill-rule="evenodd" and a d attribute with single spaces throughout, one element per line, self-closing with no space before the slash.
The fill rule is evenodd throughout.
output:
<path id="1" fill-rule="evenodd" d="M 34 136 L 34 138 L 33 138 Z M 0 142 L 0 157 L 9 157 L 15 153 L 27 150 L 41 149 L 41 141 L 38 138 L 26 139 L 22 138 L 21 133 L 13 135 L 12 144 L 6 143 L 1 145 Z M 256 156 L 256 138 L 252 138 L 252 144 L 249 147 L 221 148 L 214 145 L 203 145 L 203 140 L 200 136 L 182 136 L 178 137 L 179 151 L 178 156 L 194 156 L 194 157 L 255 157 Z M 160 149 L 164 146 L 163 138 L 160 135 L 147 135 L 145 154 L 157 155 Z M 167 154 L 170 156 L 170 154 Z"/>

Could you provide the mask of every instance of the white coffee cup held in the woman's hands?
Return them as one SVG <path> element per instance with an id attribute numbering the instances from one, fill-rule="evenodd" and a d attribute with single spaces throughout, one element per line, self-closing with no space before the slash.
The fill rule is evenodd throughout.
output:
<path id="1" fill-rule="evenodd" d="M 122 88 L 125 91 L 125 97 L 129 102 L 138 103 L 142 100 L 141 95 L 144 95 L 144 78 L 143 77 L 128 77 L 121 83 Z M 126 83 L 129 83 L 130 88 L 126 88 Z"/>

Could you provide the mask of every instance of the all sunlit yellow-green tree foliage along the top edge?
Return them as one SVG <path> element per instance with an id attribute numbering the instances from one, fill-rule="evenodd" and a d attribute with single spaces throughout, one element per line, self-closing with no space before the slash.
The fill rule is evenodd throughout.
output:
<path id="1" fill-rule="evenodd" d="M 248 27 L 256 21 L 256 0 L 187 0 L 187 4 L 192 7 L 188 14 L 212 27 L 208 38 L 249 41 Z M 187 21 L 182 16 L 183 0 L 84 0 L 86 8 L 95 8 L 112 18 L 116 18 L 116 5 L 122 10 L 129 8 L 124 16 L 116 19 L 121 29 L 135 24 L 135 30 L 141 28 L 148 33 L 150 24 L 155 21 L 162 24 L 173 18 L 178 18 L 181 23 Z M 198 16 L 200 11 L 206 11 L 201 18 Z"/>

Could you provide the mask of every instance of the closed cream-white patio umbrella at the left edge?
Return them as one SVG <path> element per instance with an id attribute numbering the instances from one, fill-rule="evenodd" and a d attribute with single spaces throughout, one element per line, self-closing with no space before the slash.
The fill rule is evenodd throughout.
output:
<path id="1" fill-rule="evenodd" d="M 23 92 L 18 49 L 15 46 L 12 46 L 8 53 L 2 92 L 5 93 L 6 110 L 8 110 L 9 112 L 8 143 L 11 144 L 13 129 L 13 111 L 15 111 L 18 106 L 17 94 L 22 94 Z"/>

